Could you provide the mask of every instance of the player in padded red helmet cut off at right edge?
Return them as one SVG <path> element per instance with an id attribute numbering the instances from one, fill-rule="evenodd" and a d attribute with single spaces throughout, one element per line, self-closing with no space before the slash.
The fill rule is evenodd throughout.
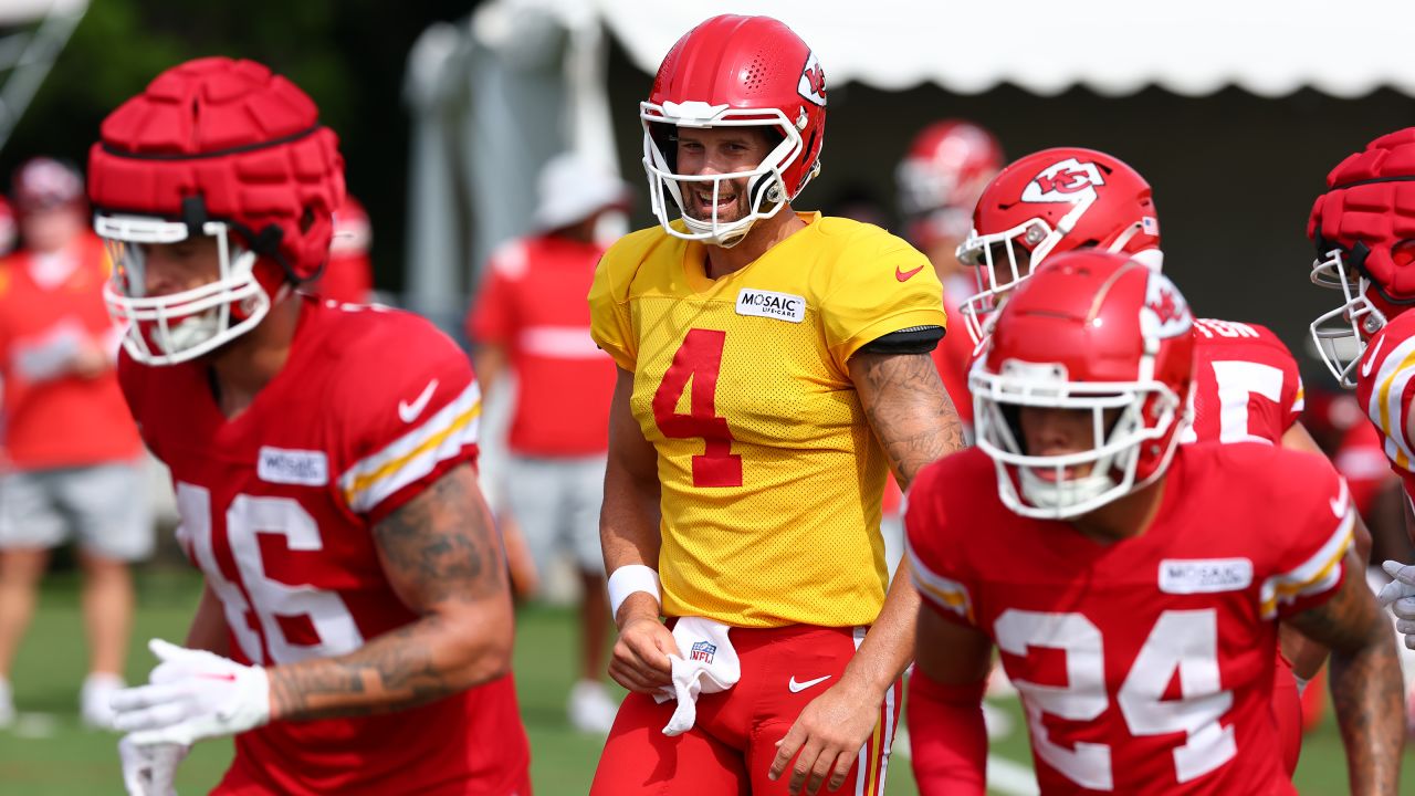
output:
<path id="1" fill-rule="evenodd" d="M 1312 322 L 1312 339 L 1384 436 L 1407 500 L 1415 496 L 1415 313 L 1405 312 L 1415 305 L 1412 156 L 1415 127 L 1377 137 L 1327 174 L 1307 221 L 1317 248 L 1312 282 L 1341 290 L 1341 303 Z M 1415 541 L 1415 528 L 1407 531 Z M 1384 568 L 1395 581 L 1381 591 L 1381 602 L 1395 613 L 1405 646 L 1415 649 L 1415 567 L 1387 561 Z"/>

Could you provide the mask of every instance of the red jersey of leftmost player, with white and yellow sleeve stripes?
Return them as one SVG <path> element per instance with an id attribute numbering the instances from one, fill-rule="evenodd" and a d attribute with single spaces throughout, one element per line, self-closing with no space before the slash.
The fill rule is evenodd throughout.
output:
<path id="1" fill-rule="evenodd" d="M 475 463 L 481 397 L 451 340 L 409 313 L 306 297 L 286 367 L 233 419 L 200 364 L 125 356 L 119 375 L 171 467 L 178 538 L 221 598 L 232 659 L 340 656 L 416 619 L 372 525 Z M 508 676 L 406 711 L 243 732 L 216 792 L 504 796 L 528 759 Z"/>

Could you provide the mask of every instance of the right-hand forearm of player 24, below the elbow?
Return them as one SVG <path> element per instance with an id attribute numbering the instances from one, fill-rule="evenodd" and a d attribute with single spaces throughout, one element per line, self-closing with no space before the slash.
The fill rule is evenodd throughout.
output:
<path id="1" fill-rule="evenodd" d="M 1364 649 L 1332 653 L 1332 703 L 1353 796 L 1397 793 L 1405 744 L 1399 659 L 1385 618 L 1377 622 Z"/>

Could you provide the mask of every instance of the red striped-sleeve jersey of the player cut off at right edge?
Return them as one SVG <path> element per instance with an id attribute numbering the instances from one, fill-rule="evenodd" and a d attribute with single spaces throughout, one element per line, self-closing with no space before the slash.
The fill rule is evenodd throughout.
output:
<path id="1" fill-rule="evenodd" d="M 1356 399 L 1384 436 L 1385 459 L 1415 501 L 1415 312 L 1401 313 L 1371 337 L 1357 365 Z"/>

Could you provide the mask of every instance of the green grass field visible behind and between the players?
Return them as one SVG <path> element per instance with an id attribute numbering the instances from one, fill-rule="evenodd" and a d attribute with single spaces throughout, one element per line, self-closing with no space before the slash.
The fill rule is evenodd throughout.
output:
<path id="1" fill-rule="evenodd" d="M 153 636 L 180 640 L 195 608 L 200 582 L 185 571 L 156 569 L 140 581 L 140 610 L 133 632 L 127 677 L 140 681 L 151 667 L 143 642 Z M 83 729 L 76 720 L 76 691 L 83 677 L 82 622 L 71 575 L 47 585 L 35 623 L 14 669 L 16 703 L 21 721 L 0 731 L 0 795 L 50 796 L 122 793 L 115 752 L 116 737 Z M 603 739 L 569 728 L 565 698 L 572 681 L 572 616 L 565 609 L 535 608 L 519 615 L 516 684 L 532 746 L 532 776 L 541 796 L 589 790 Z M 1016 703 L 1005 703 L 1016 729 L 993 742 L 992 752 L 1026 765 L 1027 739 Z M 201 744 L 178 772 L 178 792 L 205 793 L 231 759 L 229 742 Z M 1415 796 L 1415 754 L 1405 756 L 1402 793 Z M 1307 737 L 1298 769 L 1305 795 L 1346 792 L 1341 741 L 1330 720 Z M 907 759 L 890 766 L 889 793 L 916 793 Z M 998 793 L 1007 793 L 999 790 Z"/>

